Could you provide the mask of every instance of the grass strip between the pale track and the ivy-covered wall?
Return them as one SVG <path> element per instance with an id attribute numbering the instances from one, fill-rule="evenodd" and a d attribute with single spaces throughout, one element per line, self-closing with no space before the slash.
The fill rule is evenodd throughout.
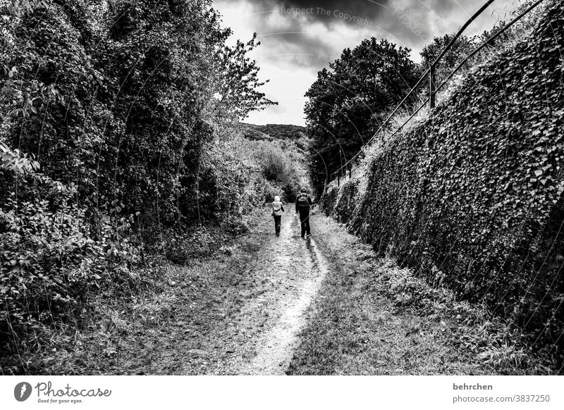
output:
<path id="1" fill-rule="evenodd" d="M 329 218 L 314 216 L 312 226 L 332 269 L 288 374 L 550 373 L 483 306 L 456 302 L 448 290 L 378 258 Z"/>

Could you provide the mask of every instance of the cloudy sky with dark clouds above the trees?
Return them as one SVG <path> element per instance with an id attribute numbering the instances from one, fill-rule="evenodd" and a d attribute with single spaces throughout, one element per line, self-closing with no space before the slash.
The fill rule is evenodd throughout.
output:
<path id="1" fill-rule="evenodd" d="M 497 0 L 470 25 L 480 34 L 505 20 L 522 0 Z M 257 32 L 261 45 L 252 53 L 261 68 L 262 91 L 278 101 L 252 113 L 255 124 L 304 125 L 304 94 L 317 72 L 354 48 L 376 37 L 411 49 L 413 61 L 435 36 L 452 33 L 484 4 L 484 0 L 216 0 L 223 25 L 246 41 Z"/>

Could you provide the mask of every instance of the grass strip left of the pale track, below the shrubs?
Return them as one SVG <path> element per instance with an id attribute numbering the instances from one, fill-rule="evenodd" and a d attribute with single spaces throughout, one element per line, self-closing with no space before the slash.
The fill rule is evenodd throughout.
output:
<path id="1" fill-rule="evenodd" d="M 0 374 L 179 373 L 177 347 L 204 335 L 220 310 L 235 309 L 228 292 L 240 281 L 235 273 L 245 271 L 267 238 L 219 228 L 200 236 L 202 243 L 192 240 L 174 258 L 147 258 L 127 283 L 90 296 L 65 321 L 45 321 L 29 344 L 0 358 Z"/>

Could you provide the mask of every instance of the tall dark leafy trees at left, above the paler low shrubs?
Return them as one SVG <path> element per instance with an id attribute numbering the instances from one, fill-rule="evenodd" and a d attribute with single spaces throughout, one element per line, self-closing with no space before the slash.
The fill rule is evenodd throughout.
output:
<path id="1" fill-rule="evenodd" d="M 20 0 L 0 13 L 0 140 L 76 185 L 93 220 L 123 204 L 139 223 L 175 223 L 215 127 L 274 104 L 247 56 L 256 36 L 227 46 L 209 0 Z"/>

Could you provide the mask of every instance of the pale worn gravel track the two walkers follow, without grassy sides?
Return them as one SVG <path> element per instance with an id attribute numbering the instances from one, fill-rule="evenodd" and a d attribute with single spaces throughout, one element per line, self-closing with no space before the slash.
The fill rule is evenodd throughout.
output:
<path id="1" fill-rule="evenodd" d="M 221 339 L 224 354 L 213 354 L 204 368 L 200 358 L 190 361 L 187 374 L 284 374 L 293 357 L 298 332 L 305 325 L 305 309 L 317 294 L 327 268 L 315 240 L 302 240 L 298 218 L 288 205 L 280 237 L 269 240 L 245 273 L 259 282 L 254 297 L 231 316 Z M 274 231 L 266 215 L 264 232 Z M 273 226 L 270 226 L 273 225 Z M 210 338 L 210 342 L 212 341 Z"/>

